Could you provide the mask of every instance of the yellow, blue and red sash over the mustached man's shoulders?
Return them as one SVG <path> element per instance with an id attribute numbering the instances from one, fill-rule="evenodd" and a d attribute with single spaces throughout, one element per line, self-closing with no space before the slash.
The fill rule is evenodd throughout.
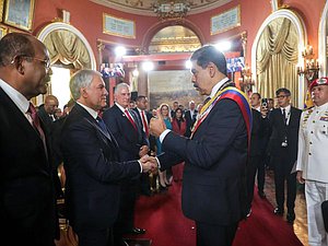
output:
<path id="1" fill-rule="evenodd" d="M 219 103 L 223 98 L 229 98 L 239 106 L 239 109 L 242 112 L 243 118 L 246 124 L 246 129 L 247 129 L 247 139 L 248 139 L 248 147 L 250 145 L 250 131 L 251 131 L 251 109 L 249 106 L 248 101 L 246 99 L 245 93 L 239 91 L 236 87 L 229 86 L 222 91 L 216 92 L 216 94 L 208 102 L 206 105 L 200 110 L 200 115 L 197 118 L 192 131 L 191 131 L 191 137 L 195 134 L 199 126 L 203 122 L 203 120 L 208 117 L 209 113 L 212 110 L 212 108 L 215 106 L 216 103 Z"/>

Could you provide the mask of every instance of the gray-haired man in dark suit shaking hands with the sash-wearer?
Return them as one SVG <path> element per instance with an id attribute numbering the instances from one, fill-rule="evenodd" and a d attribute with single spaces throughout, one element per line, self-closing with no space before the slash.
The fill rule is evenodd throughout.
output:
<path id="1" fill-rule="evenodd" d="M 114 246 L 119 184 L 138 178 L 151 165 L 140 160 L 120 162 L 115 137 L 98 117 L 108 94 L 99 72 L 80 70 L 71 78 L 70 89 L 77 104 L 61 133 L 68 219 L 80 246 Z"/>

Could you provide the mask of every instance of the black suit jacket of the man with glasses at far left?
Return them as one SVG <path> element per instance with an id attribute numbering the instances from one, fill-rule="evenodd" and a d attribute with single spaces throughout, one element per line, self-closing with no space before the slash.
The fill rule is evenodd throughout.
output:
<path id="1" fill-rule="evenodd" d="M 10 242 L 24 241 L 22 226 L 28 229 L 31 237 L 36 233 L 55 238 L 50 149 L 47 159 L 38 133 L 1 87 L 0 122 L 0 220 L 5 229 L 14 231 L 15 237 Z M 5 241 L 5 230 L 0 234 Z"/>

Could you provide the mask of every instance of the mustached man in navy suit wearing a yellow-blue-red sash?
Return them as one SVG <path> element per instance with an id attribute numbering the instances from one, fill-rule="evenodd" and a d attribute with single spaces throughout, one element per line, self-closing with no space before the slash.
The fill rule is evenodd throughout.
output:
<path id="1" fill-rule="evenodd" d="M 166 129 L 161 116 L 151 119 L 150 129 L 165 152 L 157 156 L 161 169 L 185 161 L 183 211 L 196 221 L 197 245 L 227 246 L 246 215 L 251 112 L 245 95 L 226 78 L 225 57 L 214 46 L 196 50 L 190 61 L 194 86 L 210 96 L 190 139 Z"/>

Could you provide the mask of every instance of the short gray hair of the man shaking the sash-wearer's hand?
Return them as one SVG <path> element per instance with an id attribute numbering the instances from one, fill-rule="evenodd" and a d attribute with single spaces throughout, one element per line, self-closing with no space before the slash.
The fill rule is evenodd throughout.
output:
<path id="1" fill-rule="evenodd" d="M 103 77 L 102 73 L 91 69 L 80 70 L 72 75 L 70 90 L 74 101 L 81 97 L 81 87 L 89 87 L 95 75 Z"/>

